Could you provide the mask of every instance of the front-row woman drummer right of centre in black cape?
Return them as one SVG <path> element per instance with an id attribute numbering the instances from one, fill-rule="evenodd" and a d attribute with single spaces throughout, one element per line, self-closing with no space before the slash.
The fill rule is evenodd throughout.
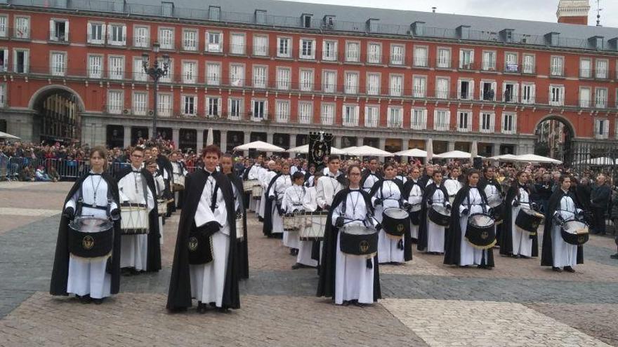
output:
<path id="1" fill-rule="evenodd" d="M 372 254 L 377 250 L 376 231 L 373 229 L 375 219 L 371 198 L 360 187 L 360 172 L 358 165 L 348 167 L 350 185 L 336 194 L 324 233 L 317 296 L 333 298 L 338 305 L 372 304 L 381 299 L 378 259 Z M 363 250 L 365 254 L 355 255 L 342 251 L 342 233 L 346 227 L 372 233 L 372 242 L 364 240 L 358 243 L 362 247 L 353 247 Z M 348 250 L 347 247 L 343 248 Z"/>

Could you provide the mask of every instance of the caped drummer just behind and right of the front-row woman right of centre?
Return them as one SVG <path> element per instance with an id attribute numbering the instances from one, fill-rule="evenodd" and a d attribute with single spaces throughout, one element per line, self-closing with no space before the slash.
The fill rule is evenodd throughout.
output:
<path id="1" fill-rule="evenodd" d="M 384 179 L 376 182 L 372 191 L 369 192 L 376 210 L 376 220 L 381 224 L 378 259 L 380 264 L 402 264 L 404 261 L 412 260 L 412 238 L 407 214 L 410 205 L 403 196 L 402 182 L 395 179 L 397 173 L 395 166 L 392 163 L 386 163 L 383 170 Z M 401 223 L 397 222 L 393 218 L 386 217 L 387 213 L 393 213 L 391 217 L 405 218 L 405 220 Z M 403 229 L 396 230 L 400 225 L 404 226 Z"/>

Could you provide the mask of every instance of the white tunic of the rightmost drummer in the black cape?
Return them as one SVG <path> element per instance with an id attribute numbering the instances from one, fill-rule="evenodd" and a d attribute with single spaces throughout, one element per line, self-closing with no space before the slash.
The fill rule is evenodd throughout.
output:
<path id="1" fill-rule="evenodd" d="M 563 196 L 560 199 L 560 205 L 556 208 L 556 215 L 561 215 L 565 221 L 575 219 L 581 210 L 575 207 L 575 203 L 570 196 Z M 547 221 L 548 222 L 548 221 Z M 560 233 L 560 224 L 555 222 L 551 226 L 551 252 L 553 257 L 553 266 L 563 267 L 571 266 L 574 268 L 577 265 L 577 246 L 565 243 L 563 236 Z"/>

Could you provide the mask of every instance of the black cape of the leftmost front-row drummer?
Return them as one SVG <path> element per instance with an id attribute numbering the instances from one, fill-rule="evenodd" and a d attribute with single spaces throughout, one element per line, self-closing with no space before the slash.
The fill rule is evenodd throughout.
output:
<path id="1" fill-rule="evenodd" d="M 84 183 L 84 179 L 90 176 L 91 173 L 88 172 L 84 177 L 77 179 L 77 181 L 73 184 L 71 190 L 67 194 L 67 198 L 65 198 L 64 206 L 67 202 L 77 193 L 81 184 Z M 119 203 L 119 195 L 118 195 L 118 184 L 116 180 L 108 175 L 107 173 L 103 173 L 101 175 L 105 182 L 107 183 L 107 189 L 109 189 L 111 193 L 111 198 L 120 208 Z M 49 294 L 52 295 L 68 295 L 67 293 L 67 281 L 69 278 L 69 222 L 71 222 L 64 215 L 60 217 L 60 226 L 58 226 L 58 240 L 55 244 L 55 256 L 53 259 L 53 270 L 51 271 L 51 284 L 49 286 Z M 120 230 L 120 220 L 114 222 L 114 246 L 112 248 L 112 259 L 111 259 L 111 275 L 112 275 L 112 283 L 110 292 L 112 294 L 117 294 L 120 290 L 120 242 L 121 242 L 121 230 Z M 108 266 L 110 264 L 108 263 Z"/>

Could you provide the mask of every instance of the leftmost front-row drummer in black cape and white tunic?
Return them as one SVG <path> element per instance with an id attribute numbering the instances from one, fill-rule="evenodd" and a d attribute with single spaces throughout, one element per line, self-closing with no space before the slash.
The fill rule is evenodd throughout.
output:
<path id="1" fill-rule="evenodd" d="M 106 156 L 103 147 L 91 150 L 91 170 L 73 184 L 65 199 L 51 273 L 50 294 L 75 294 L 84 304 L 100 304 L 120 288 L 118 185 L 105 172 Z M 107 229 L 87 229 L 86 221 L 79 223 L 81 217 Z M 72 229 L 70 222 L 86 228 Z"/>

